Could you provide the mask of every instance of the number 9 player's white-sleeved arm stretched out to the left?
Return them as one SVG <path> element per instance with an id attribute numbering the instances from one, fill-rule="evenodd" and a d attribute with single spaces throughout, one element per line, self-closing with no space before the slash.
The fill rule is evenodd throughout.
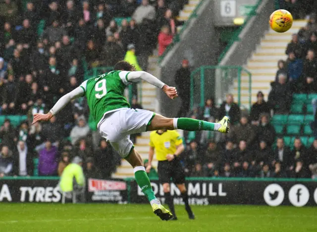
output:
<path id="1" fill-rule="evenodd" d="M 34 124 L 37 121 L 50 120 L 61 109 L 63 109 L 71 100 L 79 98 L 79 97 L 83 97 L 84 93 L 85 92 L 81 87 L 77 87 L 76 89 L 69 92 L 68 94 L 65 94 L 56 102 L 56 104 L 53 106 L 53 108 L 50 110 L 48 114 L 34 114 L 32 124 Z"/>

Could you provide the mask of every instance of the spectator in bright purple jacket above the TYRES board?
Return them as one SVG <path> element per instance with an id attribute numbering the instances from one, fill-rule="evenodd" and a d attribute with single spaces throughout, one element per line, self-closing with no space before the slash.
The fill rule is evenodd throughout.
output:
<path id="1" fill-rule="evenodd" d="M 52 145 L 49 139 L 45 142 L 45 148 L 39 153 L 39 175 L 56 175 L 57 174 L 57 148 Z"/>

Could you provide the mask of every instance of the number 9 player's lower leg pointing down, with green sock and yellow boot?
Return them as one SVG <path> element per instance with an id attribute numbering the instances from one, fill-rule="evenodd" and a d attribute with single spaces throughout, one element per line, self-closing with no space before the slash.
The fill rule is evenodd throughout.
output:
<path id="1" fill-rule="evenodd" d="M 161 220 L 170 220 L 173 215 L 168 210 L 166 210 L 156 198 L 151 186 L 150 179 L 145 172 L 143 160 L 140 154 L 134 149 L 134 147 L 132 147 L 129 155 L 124 159 L 128 161 L 133 167 L 135 179 L 144 195 L 146 195 L 146 197 L 150 201 L 153 212 L 158 215 Z"/>

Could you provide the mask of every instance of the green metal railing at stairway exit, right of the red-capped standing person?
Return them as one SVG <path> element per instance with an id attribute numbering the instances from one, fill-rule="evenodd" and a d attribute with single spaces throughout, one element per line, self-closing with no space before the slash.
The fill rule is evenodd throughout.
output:
<path id="1" fill-rule="evenodd" d="M 216 72 L 217 71 L 217 72 Z M 241 76 L 242 73 L 246 73 L 249 76 L 249 105 L 251 107 L 251 99 L 252 99 L 252 75 L 251 72 L 249 72 L 247 69 L 245 69 L 242 66 L 201 66 L 197 69 L 195 69 L 191 75 L 190 75 L 190 107 L 193 109 L 194 106 L 194 98 L 195 98 L 195 82 L 199 80 L 200 82 L 200 88 L 199 91 L 196 91 L 196 93 L 200 94 L 200 101 L 199 105 L 201 107 L 204 107 L 205 105 L 205 88 L 211 88 L 211 86 L 205 86 L 205 80 L 206 76 L 213 77 L 215 83 L 217 80 L 216 78 L 221 78 L 220 84 L 221 84 L 221 91 L 226 92 L 228 89 L 225 89 L 225 87 L 230 86 L 233 84 L 234 79 L 238 79 L 238 104 L 240 106 L 241 104 Z M 199 76 L 196 76 L 196 75 Z M 195 78 L 196 77 L 196 78 Z M 222 87 L 223 86 L 223 87 Z M 197 88 L 196 88 L 197 90 Z"/>

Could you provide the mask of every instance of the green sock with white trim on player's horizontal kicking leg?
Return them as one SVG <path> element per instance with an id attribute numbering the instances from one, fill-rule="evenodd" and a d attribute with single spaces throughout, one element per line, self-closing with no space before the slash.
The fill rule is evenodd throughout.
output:
<path id="1" fill-rule="evenodd" d="M 175 125 L 177 125 L 175 127 Z M 175 129 L 195 131 L 195 130 L 215 130 L 220 128 L 220 123 L 212 123 L 209 121 L 197 120 L 193 118 L 180 117 L 174 118 Z"/>

